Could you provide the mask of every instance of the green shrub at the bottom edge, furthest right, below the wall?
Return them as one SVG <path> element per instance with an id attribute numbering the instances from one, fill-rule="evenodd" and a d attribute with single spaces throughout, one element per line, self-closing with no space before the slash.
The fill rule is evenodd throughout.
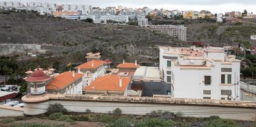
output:
<path id="1" fill-rule="evenodd" d="M 203 123 L 204 127 L 239 127 L 239 123 L 234 120 L 225 120 L 225 119 L 213 119 Z"/>

